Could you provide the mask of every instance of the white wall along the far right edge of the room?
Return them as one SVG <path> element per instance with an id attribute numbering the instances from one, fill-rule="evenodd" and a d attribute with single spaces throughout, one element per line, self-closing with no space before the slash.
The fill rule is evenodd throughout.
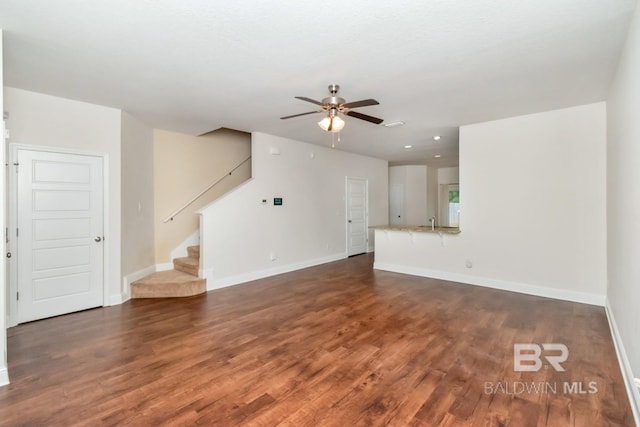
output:
<path id="1" fill-rule="evenodd" d="M 640 378 L 640 7 L 607 99 L 607 257 L 610 315 Z M 640 395 L 635 388 L 636 421 Z"/>

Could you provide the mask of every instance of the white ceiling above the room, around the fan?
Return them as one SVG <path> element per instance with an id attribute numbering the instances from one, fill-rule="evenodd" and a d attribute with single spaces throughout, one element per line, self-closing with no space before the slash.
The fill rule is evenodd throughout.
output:
<path id="1" fill-rule="evenodd" d="M 338 148 L 457 164 L 458 127 L 605 99 L 635 0 L 0 0 L 5 85 L 329 146 L 321 100 L 356 109 Z M 443 135 L 434 142 L 433 135 Z M 404 149 L 404 145 L 413 145 Z M 442 154 L 434 159 L 435 154 Z"/>

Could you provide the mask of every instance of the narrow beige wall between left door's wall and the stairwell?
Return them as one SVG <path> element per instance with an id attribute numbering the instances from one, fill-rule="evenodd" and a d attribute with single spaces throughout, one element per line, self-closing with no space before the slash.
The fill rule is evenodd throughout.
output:
<path id="1" fill-rule="evenodd" d="M 155 264 L 153 129 L 123 112 L 121 144 L 121 268 L 127 276 Z"/>

